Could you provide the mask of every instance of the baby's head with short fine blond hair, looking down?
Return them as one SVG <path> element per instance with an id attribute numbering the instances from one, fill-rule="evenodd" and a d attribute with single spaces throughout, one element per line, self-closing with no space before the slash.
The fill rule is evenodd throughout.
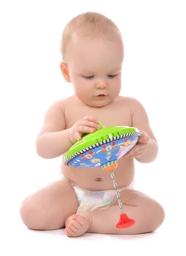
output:
<path id="1" fill-rule="evenodd" d="M 74 17 L 63 30 L 61 53 L 62 74 L 82 102 L 101 107 L 118 96 L 124 46 L 112 20 L 95 12 Z"/>

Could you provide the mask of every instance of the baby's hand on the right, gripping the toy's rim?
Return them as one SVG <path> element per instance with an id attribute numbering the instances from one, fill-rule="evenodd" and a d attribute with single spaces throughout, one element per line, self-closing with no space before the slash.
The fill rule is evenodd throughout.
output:
<path id="1" fill-rule="evenodd" d="M 139 130 L 140 131 L 140 130 Z M 132 158 L 138 158 L 147 149 L 147 146 L 149 144 L 150 137 L 145 131 L 140 131 L 142 133 L 140 139 L 138 140 L 138 143 L 123 157 L 127 159 L 132 159 Z"/>

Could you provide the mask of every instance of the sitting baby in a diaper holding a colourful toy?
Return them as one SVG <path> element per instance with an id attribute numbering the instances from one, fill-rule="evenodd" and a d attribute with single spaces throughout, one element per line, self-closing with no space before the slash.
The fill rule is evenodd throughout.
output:
<path id="1" fill-rule="evenodd" d="M 33 230 L 65 227 L 69 237 L 85 232 L 139 234 L 156 230 L 163 223 L 164 210 L 157 201 L 135 190 L 133 179 L 134 160 L 154 161 L 158 143 L 143 105 L 119 95 L 124 60 L 121 32 L 104 15 L 87 12 L 65 26 L 61 52 L 62 75 L 73 84 L 75 94 L 48 108 L 36 140 L 40 157 L 62 156 L 61 177 L 25 198 L 20 206 L 23 223 Z M 99 122 L 104 127 L 135 127 L 142 133 L 138 143 L 118 160 L 113 171 L 123 211 L 136 221 L 125 229 L 116 228 L 121 210 L 110 173 L 100 167 L 64 165 L 68 149 L 83 134 L 99 130 Z"/>

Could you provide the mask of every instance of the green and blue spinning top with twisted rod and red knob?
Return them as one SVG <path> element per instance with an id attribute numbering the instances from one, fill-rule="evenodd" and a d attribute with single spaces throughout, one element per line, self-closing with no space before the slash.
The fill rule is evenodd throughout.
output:
<path id="1" fill-rule="evenodd" d="M 65 165 L 79 168 L 101 167 L 105 172 L 110 172 L 113 185 L 116 190 L 118 204 L 121 209 L 120 221 L 117 228 L 127 228 L 135 224 L 135 220 L 129 218 L 123 212 L 122 204 L 117 189 L 113 170 L 117 168 L 120 157 L 130 151 L 138 142 L 142 133 L 138 129 L 129 126 L 112 126 L 104 128 L 92 134 L 82 137 L 76 142 L 65 155 Z"/>

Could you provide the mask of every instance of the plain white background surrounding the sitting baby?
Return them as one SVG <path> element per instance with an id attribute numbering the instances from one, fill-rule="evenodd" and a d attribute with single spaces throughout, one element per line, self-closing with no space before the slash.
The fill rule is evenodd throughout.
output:
<path id="1" fill-rule="evenodd" d="M 47 108 L 73 94 L 59 68 L 60 40 L 65 24 L 87 11 L 101 12 L 121 30 L 121 95 L 144 105 L 158 140 L 157 159 L 149 164 L 136 161 L 135 175 L 135 189 L 155 198 L 166 212 L 154 233 L 87 233 L 69 239 L 64 230 L 28 230 L 19 217 L 26 195 L 59 178 L 61 157 L 38 157 L 35 139 Z M 185 13 L 181 0 L 0 2 L 1 255 L 184 254 Z"/>

